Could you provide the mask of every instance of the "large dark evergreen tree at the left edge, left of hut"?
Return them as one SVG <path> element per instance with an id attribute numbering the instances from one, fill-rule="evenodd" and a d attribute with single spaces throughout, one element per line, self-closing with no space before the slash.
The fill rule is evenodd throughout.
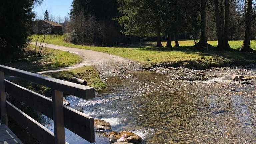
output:
<path id="1" fill-rule="evenodd" d="M 33 6 L 41 2 L 42 0 L 0 1 L 0 61 L 22 56 L 34 26 Z"/>

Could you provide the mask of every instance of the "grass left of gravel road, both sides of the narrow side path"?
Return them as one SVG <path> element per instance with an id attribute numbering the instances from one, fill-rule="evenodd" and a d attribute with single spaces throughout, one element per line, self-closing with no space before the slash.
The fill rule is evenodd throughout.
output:
<path id="1" fill-rule="evenodd" d="M 42 57 L 34 57 L 33 50 L 34 45 L 28 45 L 25 51 L 24 58 L 18 59 L 10 64 L 7 64 L 7 66 L 36 73 L 39 71 L 53 70 L 64 68 L 67 66 L 72 66 L 82 61 L 82 58 L 77 54 L 50 48 L 45 49 L 45 52 Z M 66 81 L 71 81 L 71 77 L 75 76 L 87 81 L 88 86 L 94 87 L 96 89 L 102 89 L 107 86 L 105 83 L 101 81 L 97 70 L 92 66 L 80 67 L 60 72 L 46 73 L 43 75 Z M 15 78 L 10 79 L 10 81 L 32 91 L 35 91 L 39 94 L 45 96 L 51 95 L 50 88 L 30 82 L 28 80 Z"/>

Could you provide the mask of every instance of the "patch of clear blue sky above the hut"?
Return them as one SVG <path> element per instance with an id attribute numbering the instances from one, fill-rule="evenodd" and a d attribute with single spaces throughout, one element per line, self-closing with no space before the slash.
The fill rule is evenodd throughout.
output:
<path id="1" fill-rule="evenodd" d="M 64 18 L 65 16 L 68 16 L 72 1 L 73 0 L 44 0 L 43 3 L 40 6 L 35 7 L 33 11 L 36 12 L 37 19 L 43 19 L 46 9 L 55 18 L 58 15 Z"/>

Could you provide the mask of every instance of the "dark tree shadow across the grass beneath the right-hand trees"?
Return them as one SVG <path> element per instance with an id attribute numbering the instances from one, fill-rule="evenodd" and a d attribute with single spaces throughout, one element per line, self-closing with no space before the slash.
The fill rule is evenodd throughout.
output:
<path id="1" fill-rule="evenodd" d="M 256 51 L 247 53 L 237 50 L 216 51 L 216 47 L 208 47 L 197 49 L 191 46 L 181 47 L 148 47 L 139 49 L 141 51 L 157 51 L 157 52 L 180 52 L 188 55 L 198 55 L 197 59 L 184 59 L 176 62 L 166 62 L 165 67 L 184 66 L 187 68 L 206 69 L 210 67 L 223 67 L 229 65 L 248 65 L 256 63 Z M 210 57 L 209 57 L 210 56 Z M 157 64 L 155 65 L 157 66 Z"/>

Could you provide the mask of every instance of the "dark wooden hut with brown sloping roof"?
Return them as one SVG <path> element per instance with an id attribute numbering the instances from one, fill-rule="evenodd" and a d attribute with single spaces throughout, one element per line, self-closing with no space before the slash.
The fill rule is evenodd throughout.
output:
<path id="1" fill-rule="evenodd" d="M 63 34 L 62 28 L 64 26 L 50 21 L 50 20 L 39 20 L 37 25 L 34 27 L 35 34 Z"/>

